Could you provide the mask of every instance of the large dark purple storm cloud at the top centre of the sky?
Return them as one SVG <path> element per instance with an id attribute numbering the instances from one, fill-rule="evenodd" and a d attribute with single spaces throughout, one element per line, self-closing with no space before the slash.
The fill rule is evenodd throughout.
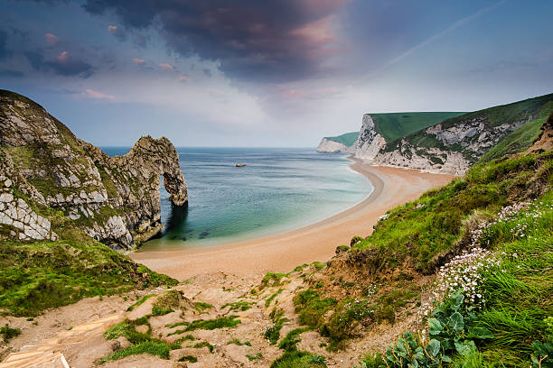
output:
<path id="1" fill-rule="evenodd" d="M 336 51 L 332 15 L 347 0 L 88 0 L 91 14 L 116 14 L 128 29 L 159 26 L 181 55 L 220 60 L 240 78 L 305 78 Z"/>

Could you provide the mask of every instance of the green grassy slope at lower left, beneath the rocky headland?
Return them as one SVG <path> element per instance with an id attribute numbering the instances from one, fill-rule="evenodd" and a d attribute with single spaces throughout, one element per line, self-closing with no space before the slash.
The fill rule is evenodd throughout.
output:
<path id="1" fill-rule="evenodd" d="M 18 317 L 87 297 L 176 283 L 87 235 L 80 241 L 0 241 L 0 308 Z"/>

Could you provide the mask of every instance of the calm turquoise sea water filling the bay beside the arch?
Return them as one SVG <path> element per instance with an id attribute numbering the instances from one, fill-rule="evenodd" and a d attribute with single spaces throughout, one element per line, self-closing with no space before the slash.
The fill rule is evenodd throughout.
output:
<path id="1" fill-rule="evenodd" d="M 128 148 L 108 147 L 109 155 Z M 178 148 L 188 207 L 161 192 L 161 237 L 141 250 L 212 246 L 294 230 L 356 205 L 372 191 L 343 154 L 304 148 Z M 237 162 L 246 163 L 237 168 Z"/>

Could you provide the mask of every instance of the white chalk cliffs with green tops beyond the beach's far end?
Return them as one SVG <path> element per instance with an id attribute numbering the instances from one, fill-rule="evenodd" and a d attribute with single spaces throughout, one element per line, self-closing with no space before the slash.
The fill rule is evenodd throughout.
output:
<path id="1" fill-rule="evenodd" d="M 328 147 L 375 165 L 463 175 L 477 161 L 526 150 L 551 111 L 553 94 L 468 114 L 365 114 L 351 147 Z"/>

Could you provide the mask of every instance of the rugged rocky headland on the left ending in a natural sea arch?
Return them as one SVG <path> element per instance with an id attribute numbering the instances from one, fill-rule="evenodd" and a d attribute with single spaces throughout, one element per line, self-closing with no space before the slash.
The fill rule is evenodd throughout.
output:
<path id="1" fill-rule="evenodd" d="M 0 224 L 12 237 L 55 240 L 33 211 L 52 207 L 98 241 L 128 250 L 162 229 L 160 175 L 175 205 L 188 200 L 178 154 L 164 137 L 140 138 L 126 155 L 109 158 L 42 106 L 4 90 L 0 129 Z"/>

